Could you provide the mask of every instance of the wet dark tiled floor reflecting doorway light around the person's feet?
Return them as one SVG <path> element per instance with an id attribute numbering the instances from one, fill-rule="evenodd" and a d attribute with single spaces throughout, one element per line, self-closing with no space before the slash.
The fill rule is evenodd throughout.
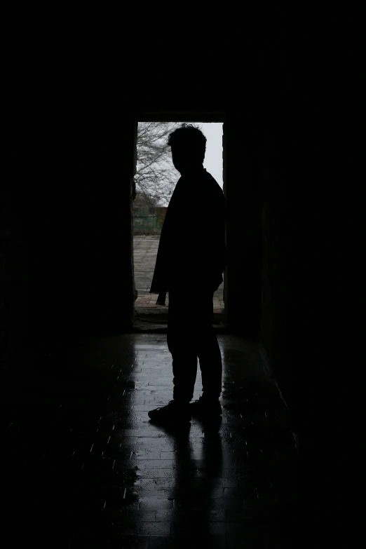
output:
<path id="1" fill-rule="evenodd" d="M 297 445 L 286 407 L 256 344 L 219 344 L 222 420 L 183 430 L 147 415 L 172 398 L 164 335 L 85 341 L 40 365 L 6 416 L 13 543 L 291 547 Z"/>

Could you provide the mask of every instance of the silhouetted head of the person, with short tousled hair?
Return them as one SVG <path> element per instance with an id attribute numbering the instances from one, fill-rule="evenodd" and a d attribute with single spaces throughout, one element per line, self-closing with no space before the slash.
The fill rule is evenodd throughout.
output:
<path id="1" fill-rule="evenodd" d="M 206 138 L 193 124 L 182 124 L 170 133 L 168 145 L 172 149 L 172 162 L 178 172 L 183 174 L 202 168 Z"/>

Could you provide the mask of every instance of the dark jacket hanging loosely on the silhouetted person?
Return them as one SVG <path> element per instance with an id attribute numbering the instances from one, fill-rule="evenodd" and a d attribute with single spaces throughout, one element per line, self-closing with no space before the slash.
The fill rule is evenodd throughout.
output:
<path id="1" fill-rule="evenodd" d="M 225 210 L 224 193 L 204 168 L 180 177 L 161 229 L 150 293 L 217 290 L 226 264 Z"/>

